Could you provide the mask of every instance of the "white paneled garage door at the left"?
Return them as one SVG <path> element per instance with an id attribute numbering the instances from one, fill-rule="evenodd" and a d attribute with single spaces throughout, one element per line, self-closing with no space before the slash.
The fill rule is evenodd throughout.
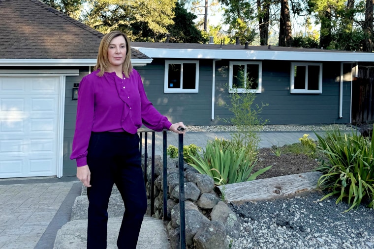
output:
<path id="1" fill-rule="evenodd" d="M 59 83 L 0 76 L 0 178 L 57 175 Z"/>

